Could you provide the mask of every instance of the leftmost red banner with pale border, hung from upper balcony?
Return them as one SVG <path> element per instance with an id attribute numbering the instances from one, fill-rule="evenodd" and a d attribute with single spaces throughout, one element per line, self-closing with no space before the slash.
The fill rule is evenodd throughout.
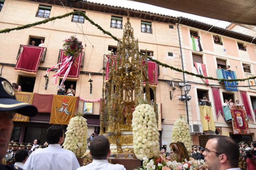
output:
<path id="1" fill-rule="evenodd" d="M 36 74 L 45 47 L 22 45 L 14 70 Z"/>

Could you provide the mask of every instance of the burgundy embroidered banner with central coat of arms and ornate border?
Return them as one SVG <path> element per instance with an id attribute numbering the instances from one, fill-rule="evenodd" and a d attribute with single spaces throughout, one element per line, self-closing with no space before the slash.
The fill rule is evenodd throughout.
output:
<path id="1" fill-rule="evenodd" d="M 229 109 L 232 115 L 234 134 L 250 134 L 244 107 L 229 106 Z"/>

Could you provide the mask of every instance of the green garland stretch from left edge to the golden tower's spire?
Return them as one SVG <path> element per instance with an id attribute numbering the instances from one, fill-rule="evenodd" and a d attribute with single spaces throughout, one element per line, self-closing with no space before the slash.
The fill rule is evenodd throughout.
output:
<path id="1" fill-rule="evenodd" d="M 35 26 L 35 25 L 45 24 L 45 23 L 48 23 L 49 21 L 53 21 L 53 20 L 56 20 L 56 19 L 61 19 L 61 18 L 67 17 L 67 16 L 69 16 L 69 15 L 74 15 L 74 14 L 80 14 L 80 15 L 82 15 L 87 21 L 89 21 L 89 22 L 90 22 L 91 24 L 93 24 L 95 27 L 97 27 L 98 29 L 100 29 L 104 34 L 107 34 L 107 35 L 111 36 L 114 40 L 119 41 L 119 40 L 117 39 L 117 37 L 113 36 L 110 32 L 105 31 L 105 30 L 104 30 L 101 26 L 99 26 L 98 24 L 94 23 L 94 21 L 91 20 L 88 16 L 86 16 L 82 11 L 69 12 L 69 13 L 66 13 L 66 14 L 64 14 L 64 15 L 54 16 L 54 17 L 51 17 L 51 18 L 48 18 L 48 19 L 45 19 L 45 20 L 42 20 L 42 21 L 39 21 L 39 22 L 35 22 L 35 23 L 33 23 L 33 24 L 27 24 L 27 25 L 23 25 L 23 26 L 20 26 L 20 27 L 2 29 L 2 30 L 0 30 L 0 33 L 7 33 L 7 32 L 10 32 L 10 31 L 14 31 L 14 30 L 20 30 L 20 29 L 30 28 L 30 27 L 33 27 L 33 26 Z"/>

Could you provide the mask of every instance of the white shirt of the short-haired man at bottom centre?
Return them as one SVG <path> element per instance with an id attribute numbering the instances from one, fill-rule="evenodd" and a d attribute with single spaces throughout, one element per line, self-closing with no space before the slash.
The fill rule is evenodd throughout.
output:
<path id="1" fill-rule="evenodd" d="M 111 164 L 107 159 L 93 159 L 89 165 L 82 166 L 77 170 L 126 170 L 124 165 Z"/>

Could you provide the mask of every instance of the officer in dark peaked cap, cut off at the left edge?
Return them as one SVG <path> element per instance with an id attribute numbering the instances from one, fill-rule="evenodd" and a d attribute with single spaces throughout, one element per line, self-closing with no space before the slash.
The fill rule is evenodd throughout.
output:
<path id="1" fill-rule="evenodd" d="M 4 158 L 8 148 L 8 142 L 10 141 L 13 129 L 12 118 L 15 113 L 25 116 L 35 116 L 37 114 L 37 108 L 31 104 L 16 100 L 15 93 L 10 82 L 4 78 L 0 78 L 0 159 Z M 17 166 L 3 165 L 1 163 L 0 169 L 21 170 Z"/>

